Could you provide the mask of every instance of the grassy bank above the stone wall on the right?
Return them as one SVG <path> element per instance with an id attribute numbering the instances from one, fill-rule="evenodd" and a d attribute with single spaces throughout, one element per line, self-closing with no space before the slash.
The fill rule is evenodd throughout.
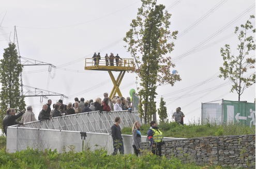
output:
<path id="1" fill-rule="evenodd" d="M 228 136 L 228 135 L 243 135 L 243 134 L 255 134 L 255 127 L 250 128 L 243 125 L 178 125 L 175 122 L 172 123 L 160 123 L 158 125 L 163 132 L 164 137 L 176 137 L 176 138 L 196 138 L 207 136 Z M 146 136 L 149 125 L 142 125 L 141 133 Z M 122 130 L 123 134 L 131 134 L 131 128 L 126 127 Z"/>

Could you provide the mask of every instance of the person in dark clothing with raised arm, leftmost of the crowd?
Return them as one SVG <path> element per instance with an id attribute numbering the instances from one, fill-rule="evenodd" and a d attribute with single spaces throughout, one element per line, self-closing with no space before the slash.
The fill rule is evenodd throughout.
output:
<path id="1" fill-rule="evenodd" d="M 13 126 L 16 124 L 22 124 L 16 122 L 16 119 L 18 119 L 20 116 L 22 116 L 25 113 L 26 110 L 22 110 L 19 114 L 15 115 L 16 111 L 13 108 L 10 108 L 6 111 L 6 116 L 3 119 L 3 127 L 4 127 L 4 132 L 5 136 L 7 136 L 7 127 L 8 126 Z"/>

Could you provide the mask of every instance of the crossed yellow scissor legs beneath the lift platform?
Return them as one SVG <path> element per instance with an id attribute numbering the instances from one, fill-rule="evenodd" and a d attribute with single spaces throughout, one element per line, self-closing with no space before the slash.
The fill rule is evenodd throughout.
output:
<path id="1" fill-rule="evenodd" d="M 118 96 L 122 97 L 122 93 L 121 93 L 121 91 L 119 89 L 119 86 L 120 86 L 120 84 L 121 84 L 121 82 L 123 80 L 123 77 L 125 75 L 125 71 L 121 71 L 119 73 L 117 79 L 115 79 L 115 77 L 114 77 L 114 75 L 112 74 L 111 71 L 108 71 L 108 72 L 109 72 L 109 76 L 110 76 L 110 78 L 111 78 L 111 80 L 113 82 L 113 85 L 114 85 L 114 87 L 113 87 L 113 89 L 112 89 L 112 91 L 111 91 L 111 93 L 109 95 L 110 99 L 112 99 L 115 96 L 116 93 L 118 94 Z"/>

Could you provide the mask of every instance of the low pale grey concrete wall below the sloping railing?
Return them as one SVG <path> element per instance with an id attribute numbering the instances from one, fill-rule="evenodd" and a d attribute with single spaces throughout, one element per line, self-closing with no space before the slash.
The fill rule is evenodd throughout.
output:
<path id="1" fill-rule="evenodd" d="M 69 151 L 81 151 L 82 142 L 80 131 L 65 131 L 52 129 L 37 129 L 24 127 L 8 127 L 7 151 L 13 153 L 26 149 L 27 147 L 38 149 L 56 149 L 62 153 L 65 149 Z M 164 138 L 165 140 L 175 140 L 178 138 Z M 132 154 L 132 136 L 123 135 L 125 154 Z M 146 142 L 146 136 L 142 136 L 142 141 Z M 112 137 L 108 133 L 87 132 L 84 141 L 84 148 L 91 150 L 104 148 L 111 154 L 113 151 Z"/>

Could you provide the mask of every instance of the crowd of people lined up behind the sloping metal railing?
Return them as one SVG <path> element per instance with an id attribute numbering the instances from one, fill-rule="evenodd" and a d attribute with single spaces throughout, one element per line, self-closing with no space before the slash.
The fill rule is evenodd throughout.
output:
<path id="1" fill-rule="evenodd" d="M 52 117 L 91 111 L 131 111 L 132 103 L 130 97 L 125 98 L 115 96 L 113 99 L 110 99 L 108 93 L 104 93 L 103 97 L 103 100 L 101 98 L 96 98 L 95 100 L 90 99 L 86 101 L 83 97 L 81 97 L 80 100 L 76 97 L 74 98 L 73 104 L 68 103 L 67 105 L 63 104 L 62 99 L 59 99 L 58 102 L 52 105 L 52 100 L 49 99 L 47 104 L 42 106 L 42 110 L 38 115 L 38 120 L 50 120 Z M 32 106 L 27 106 L 26 109 L 27 111 L 22 110 L 17 115 L 15 115 L 15 109 L 7 110 L 6 116 L 3 119 L 5 134 L 8 126 L 36 121 Z M 16 120 L 20 116 L 22 116 L 21 123 L 18 123 Z"/>

